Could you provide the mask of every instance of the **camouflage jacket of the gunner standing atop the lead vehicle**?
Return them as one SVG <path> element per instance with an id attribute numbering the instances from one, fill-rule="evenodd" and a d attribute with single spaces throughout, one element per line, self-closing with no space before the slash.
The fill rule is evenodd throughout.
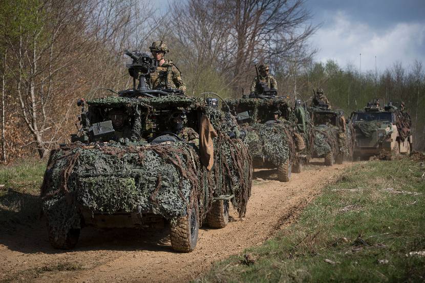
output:
<path id="1" fill-rule="evenodd" d="M 158 66 L 155 72 L 151 73 L 151 84 L 154 90 L 172 88 L 182 90 L 186 94 L 181 72 L 172 60 L 165 60 L 162 66 Z"/>

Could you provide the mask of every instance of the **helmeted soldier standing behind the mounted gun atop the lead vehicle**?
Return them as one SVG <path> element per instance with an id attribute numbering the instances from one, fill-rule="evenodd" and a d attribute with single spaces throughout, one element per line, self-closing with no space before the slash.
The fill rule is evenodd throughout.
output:
<path id="1" fill-rule="evenodd" d="M 186 85 L 181 77 L 180 70 L 174 65 L 172 60 L 165 60 L 165 53 L 168 53 L 167 43 L 157 40 L 149 47 L 152 56 L 157 60 L 158 67 L 151 73 L 152 89 L 179 89 L 186 94 Z"/>

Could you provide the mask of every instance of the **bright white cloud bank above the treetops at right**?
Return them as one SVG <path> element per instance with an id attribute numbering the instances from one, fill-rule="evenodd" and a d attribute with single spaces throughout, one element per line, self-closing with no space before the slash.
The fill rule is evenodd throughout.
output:
<path id="1" fill-rule="evenodd" d="M 358 66 L 361 53 L 362 72 L 375 69 L 375 56 L 380 70 L 391 67 L 395 61 L 405 66 L 414 59 L 425 62 L 423 23 L 398 23 L 387 30 L 378 30 L 338 11 L 312 37 L 312 43 L 320 49 L 317 60 L 333 59 L 343 67 L 347 63 Z"/>

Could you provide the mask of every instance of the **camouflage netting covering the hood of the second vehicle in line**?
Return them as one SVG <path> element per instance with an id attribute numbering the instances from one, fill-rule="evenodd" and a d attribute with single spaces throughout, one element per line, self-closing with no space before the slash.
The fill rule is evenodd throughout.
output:
<path id="1" fill-rule="evenodd" d="M 284 123 L 244 126 L 245 142 L 252 158 L 267 158 L 276 167 L 295 157 L 295 145 L 288 125 Z"/>

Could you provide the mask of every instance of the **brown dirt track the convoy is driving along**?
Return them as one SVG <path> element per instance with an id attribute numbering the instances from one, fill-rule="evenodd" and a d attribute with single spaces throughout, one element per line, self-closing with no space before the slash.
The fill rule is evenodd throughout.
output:
<path id="1" fill-rule="evenodd" d="M 293 173 L 289 183 L 276 181 L 274 170 L 256 170 L 245 219 L 231 211 L 233 217 L 224 229 L 202 227 L 192 253 L 174 253 L 166 231 L 86 228 L 71 252 L 50 247 L 44 224 L 20 228 L 13 235 L 0 234 L 0 282 L 11 277 L 12 281 L 35 282 L 181 282 L 195 278 L 216 260 L 261 244 L 288 225 L 339 169 L 350 165 L 313 164 L 300 174 Z M 82 270 L 58 271 L 59 263 Z"/>

